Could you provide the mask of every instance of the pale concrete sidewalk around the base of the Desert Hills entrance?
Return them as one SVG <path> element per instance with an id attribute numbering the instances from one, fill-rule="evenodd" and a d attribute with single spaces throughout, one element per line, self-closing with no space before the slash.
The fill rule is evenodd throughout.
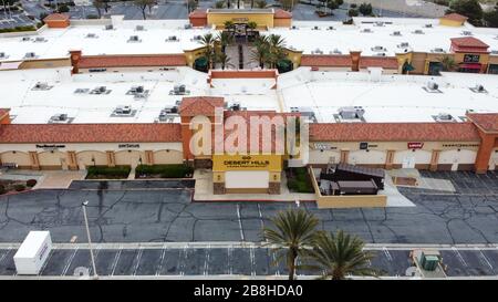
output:
<path id="1" fill-rule="evenodd" d="M 212 174 L 210 170 L 197 169 L 194 171 L 196 187 L 194 201 L 315 201 L 314 194 L 294 194 L 287 188 L 287 178 L 282 174 L 282 181 L 279 195 L 270 194 L 225 194 L 215 195 L 212 192 Z"/>

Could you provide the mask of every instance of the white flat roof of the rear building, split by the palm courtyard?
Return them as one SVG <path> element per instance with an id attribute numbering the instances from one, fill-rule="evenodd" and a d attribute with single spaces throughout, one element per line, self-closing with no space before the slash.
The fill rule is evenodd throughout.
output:
<path id="1" fill-rule="evenodd" d="M 30 41 L 22 41 L 23 35 L 0 34 L 0 52 L 6 54 L 6 59 L 0 62 L 23 60 L 27 52 L 34 52 L 38 59 L 66 58 L 70 50 L 82 50 L 84 55 L 181 53 L 201 45 L 193 40 L 195 35 L 218 32 L 214 29 L 185 29 L 188 20 L 115 21 L 114 30 L 104 30 L 102 20 L 97 21 L 101 23 L 72 21 L 72 25 L 66 29 L 44 29 L 37 35 L 24 35 Z M 384 25 L 377 27 L 375 22 L 384 22 Z M 324 54 L 361 50 L 362 55 L 376 55 L 380 51 L 373 48 L 382 46 L 385 48 L 385 55 L 392 56 L 405 49 L 430 52 L 437 48 L 448 52 L 452 38 L 465 37 L 463 32 L 470 31 L 473 37 L 489 44 L 491 51 L 498 51 L 497 29 L 468 24 L 461 28 L 442 27 L 438 22 L 438 19 L 415 18 L 355 18 L 355 24 L 352 25 L 333 21 L 293 21 L 298 30 L 274 28 L 262 34 L 281 34 L 287 46 L 307 54 L 320 49 Z M 426 24 L 432 24 L 432 28 L 426 28 Z M 136 31 L 136 25 L 143 25 L 145 30 Z M 314 27 L 320 30 L 314 30 Z M 329 30 L 329 27 L 334 30 Z M 363 32 L 364 29 L 371 32 Z M 422 30 L 424 34 L 414 33 L 415 30 Z M 400 31 L 401 35 L 393 35 L 394 31 Z M 85 38 L 89 33 L 97 38 Z M 138 35 L 142 42 L 128 42 L 131 35 Z M 172 35 L 176 35 L 179 42 L 166 42 Z M 34 42 L 37 37 L 46 41 Z M 402 42 L 407 42 L 408 48 L 398 48 Z"/>

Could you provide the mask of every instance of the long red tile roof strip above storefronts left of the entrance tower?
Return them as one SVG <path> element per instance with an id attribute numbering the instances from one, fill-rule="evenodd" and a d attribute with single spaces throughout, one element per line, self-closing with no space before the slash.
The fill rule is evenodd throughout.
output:
<path id="1" fill-rule="evenodd" d="M 181 142 L 180 124 L 10 124 L 0 143 Z"/>

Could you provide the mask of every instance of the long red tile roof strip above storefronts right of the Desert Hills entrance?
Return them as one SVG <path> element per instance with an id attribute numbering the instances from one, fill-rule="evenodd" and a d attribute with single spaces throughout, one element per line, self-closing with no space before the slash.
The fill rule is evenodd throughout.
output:
<path id="1" fill-rule="evenodd" d="M 310 124 L 314 142 L 476 142 L 473 123 L 338 123 Z"/>

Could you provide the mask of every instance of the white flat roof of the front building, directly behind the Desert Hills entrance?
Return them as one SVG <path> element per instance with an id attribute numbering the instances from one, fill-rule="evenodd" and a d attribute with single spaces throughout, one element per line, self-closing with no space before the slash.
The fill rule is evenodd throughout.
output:
<path id="1" fill-rule="evenodd" d="M 424 90 L 427 82 L 440 93 Z M 33 91 L 38 82 L 52 86 Z M 181 95 L 170 95 L 185 84 L 189 96 L 222 96 L 228 105 L 239 103 L 248 111 L 291 112 L 310 107 L 320 123 L 335 123 L 343 106 L 362 106 L 365 122 L 435 122 L 434 115 L 452 114 L 458 122 L 467 110 L 498 112 L 497 75 L 444 73 L 427 75 L 382 75 L 367 72 L 312 72 L 300 67 L 281 74 L 277 90 L 271 79 L 215 79 L 189 67 L 167 72 L 95 73 L 70 76 L 69 69 L 0 72 L 1 107 L 10 107 L 14 124 L 45 124 L 55 114 L 68 114 L 72 123 L 154 123 L 163 108 L 174 106 Z M 486 93 L 470 90 L 477 84 Z M 148 97 L 134 100 L 126 92 L 142 85 Z M 76 94 L 76 88 L 105 86 L 108 94 Z M 120 105 L 131 105 L 133 116 L 112 116 Z M 179 123 L 175 118 L 174 123 Z"/>

